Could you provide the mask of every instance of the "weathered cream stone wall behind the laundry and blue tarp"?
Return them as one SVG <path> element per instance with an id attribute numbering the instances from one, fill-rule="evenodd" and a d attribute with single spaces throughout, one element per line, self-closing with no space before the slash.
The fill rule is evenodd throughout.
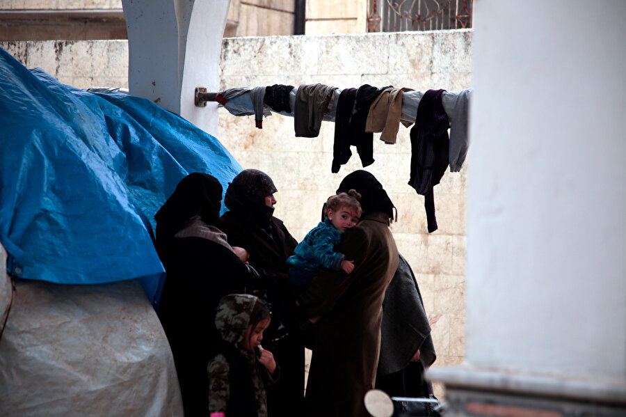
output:
<path id="1" fill-rule="evenodd" d="M 126 41 L 0 42 L 28 68 L 86 88 L 127 87 Z M 472 31 L 372 33 L 342 36 L 230 38 L 223 42 L 221 86 L 323 84 L 339 88 L 406 86 L 460 91 L 472 86 Z M 319 221 L 323 201 L 344 175 L 361 168 L 356 152 L 338 174 L 330 172 L 334 124 L 320 136 L 294 136 L 294 119 L 273 115 L 264 129 L 253 117 L 220 109 L 218 138 L 244 168 L 270 174 L 278 187 L 276 216 L 302 239 Z M 395 145 L 374 134 L 374 162 L 367 167 L 398 208 L 392 231 L 412 266 L 433 324 L 435 365 L 458 364 L 465 354 L 465 203 L 469 160 L 435 187 L 439 230 L 428 234 L 424 198 L 408 186 L 409 129 Z"/>

